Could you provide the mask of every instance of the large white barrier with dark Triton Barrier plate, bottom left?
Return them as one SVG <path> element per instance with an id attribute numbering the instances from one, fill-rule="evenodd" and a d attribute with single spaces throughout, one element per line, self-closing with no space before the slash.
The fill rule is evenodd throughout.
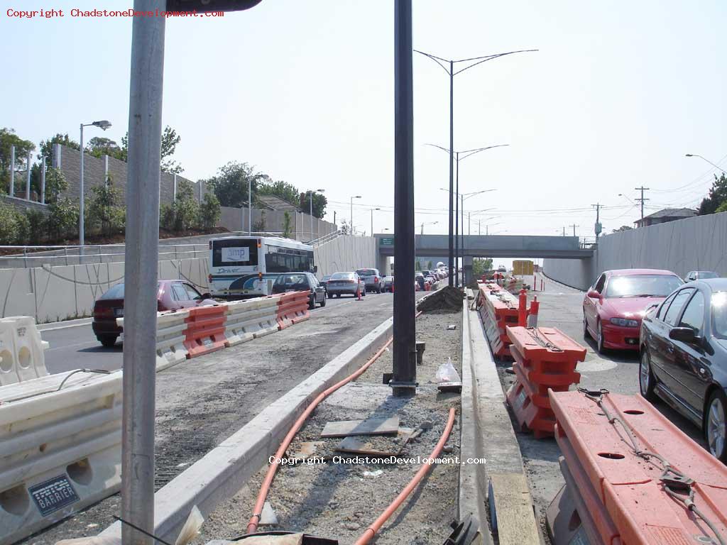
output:
<path id="1" fill-rule="evenodd" d="M 56 374 L 1 387 L 0 445 L 0 545 L 116 493 L 121 371 Z"/>

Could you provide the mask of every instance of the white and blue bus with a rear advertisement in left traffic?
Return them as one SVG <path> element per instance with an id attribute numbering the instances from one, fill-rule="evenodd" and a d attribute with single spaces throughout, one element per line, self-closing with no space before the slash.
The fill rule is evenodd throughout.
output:
<path id="1" fill-rule="evenodd" d="M 281 237 L 233 236 L 209 241 L 209 292 L 233 301 L 273 293 L 281 273 L 316 273 L 313 246 Z"/>

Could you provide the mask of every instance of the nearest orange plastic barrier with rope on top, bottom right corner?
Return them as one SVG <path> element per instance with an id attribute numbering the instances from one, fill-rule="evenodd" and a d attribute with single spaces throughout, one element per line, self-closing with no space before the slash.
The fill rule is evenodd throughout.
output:
<path id="1" fill-rule="evenodd" d="M 651 403 L 581 392 L 550 392 L 550 403 L 555 439 L 603 543 L 724 542 L 727 468 Z"/>

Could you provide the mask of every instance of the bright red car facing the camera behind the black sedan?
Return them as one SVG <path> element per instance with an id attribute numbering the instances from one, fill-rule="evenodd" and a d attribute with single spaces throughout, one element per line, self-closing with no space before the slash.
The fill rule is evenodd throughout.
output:
<path id="1" fill-rule="evenodd" d="M 583 334 L 604 349 L 638 350 L 641 318 L 683 281 L 669 270 L 607 270 L 583 298 Z"/>

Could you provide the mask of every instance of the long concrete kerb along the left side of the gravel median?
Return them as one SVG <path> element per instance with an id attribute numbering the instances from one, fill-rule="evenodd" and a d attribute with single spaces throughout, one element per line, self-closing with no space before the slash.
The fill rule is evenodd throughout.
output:
<path id="1" fill-rule="evenodd" d="M 393 318 L 389 318 L 157 491 L 155 535 L 173 540 L 193 506 L 206 516 L 220 501 L 234 496 L 249 477 L 268 464 L 308 403 L 365 363 L 385 344 L 392 329 Z M 120 538 L 121 523 L 109 526 L 100 536 Z"/>

